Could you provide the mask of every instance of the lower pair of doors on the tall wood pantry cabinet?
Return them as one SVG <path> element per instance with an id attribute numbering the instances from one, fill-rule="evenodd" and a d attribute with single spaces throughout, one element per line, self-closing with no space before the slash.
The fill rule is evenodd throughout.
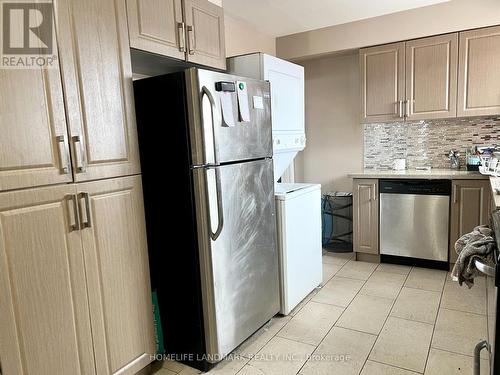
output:
<path id="1" fill-rule="evenodd" d="M 135 374 L 149 285 L 140 176 L 0 193 L 2 374 Z"/>

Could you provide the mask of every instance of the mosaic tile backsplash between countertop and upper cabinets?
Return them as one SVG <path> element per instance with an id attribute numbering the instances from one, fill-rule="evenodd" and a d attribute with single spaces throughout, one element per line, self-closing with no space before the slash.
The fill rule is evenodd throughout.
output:
<path id="1" fill-rule="evenodd" d="M 466 149 L 500 146 L 500 117 L 365 124 L 364 138 L 366 169 L 393 169 L 394 159 L 406 159 L 408 169 L 449 168 L 452 149 L 465 169 Z"/>

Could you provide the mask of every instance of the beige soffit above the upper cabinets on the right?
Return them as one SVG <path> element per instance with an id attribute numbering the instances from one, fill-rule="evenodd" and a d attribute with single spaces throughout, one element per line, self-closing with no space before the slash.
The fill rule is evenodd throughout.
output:
<path id="1" fill-rule="evenodd" d="M 311 58 L 497 24 L 500 24 L 499 0 L 451 0 L 280 37 L 276 40 L 276 51 L 279 57 L 286 59 Z"/>

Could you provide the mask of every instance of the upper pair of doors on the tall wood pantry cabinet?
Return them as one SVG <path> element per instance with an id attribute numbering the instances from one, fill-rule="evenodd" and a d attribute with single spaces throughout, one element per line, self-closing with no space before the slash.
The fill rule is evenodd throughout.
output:
<path id="1" fill-rule="evenodd" d="M 140 173 L 125 4 L 54 12 L 59 64 L 0 71 L 0 191 Z"/>

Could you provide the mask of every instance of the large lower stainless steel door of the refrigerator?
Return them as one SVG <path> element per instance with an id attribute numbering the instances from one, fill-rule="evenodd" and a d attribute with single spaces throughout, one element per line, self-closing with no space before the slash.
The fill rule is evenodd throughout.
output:
<path id="1" fill-rule="evenodd" d="M 207 360 L 280 309 L 272 160 L 193 171 Z"/>

